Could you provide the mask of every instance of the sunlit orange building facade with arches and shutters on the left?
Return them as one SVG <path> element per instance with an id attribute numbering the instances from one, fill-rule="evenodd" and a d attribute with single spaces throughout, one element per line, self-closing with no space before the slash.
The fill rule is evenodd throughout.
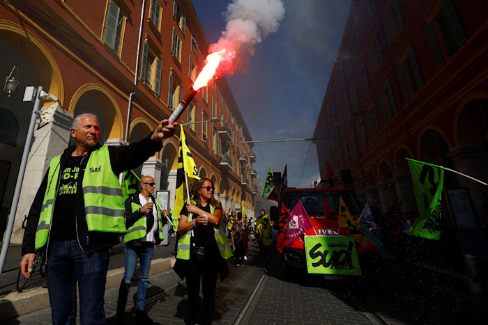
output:
<path id="1" fill-rule="evenodd" d="M 1 72 L 18 62 L 20 86 L 0 96 L 0 182 L 3 226 L 12 202 L 31 102 L 24 86 L 43 86 L 59 98 L 54 118 L 36 127 L 20 194 L 12 241 L 22 241 L 22 216 L 50 159 L 70 143 L 73 116 L 96 113 L 100 143 L 138 141 L 168 118 L 203 67 L 208 40 L 190 0 L 3 1 L 0 4 Z M 56 104 L 54 104 L 56 105 Z M 204 122 L 218 118 L 218 122 Z M 224 209 L 254 215 L 252 140 L 224 77 L 202 88 L 181 122 L 201 177 L 215 184 Z M 43 123 L 41 123 L 43 124 Z M 178 137 L 137 168 L 152 175 L 156 190 L 169 190 L 174 206 Z M 4 227 L 4 226 L 3 226 Z M 3 237 L 3 231 L 1 233 Z"/>

